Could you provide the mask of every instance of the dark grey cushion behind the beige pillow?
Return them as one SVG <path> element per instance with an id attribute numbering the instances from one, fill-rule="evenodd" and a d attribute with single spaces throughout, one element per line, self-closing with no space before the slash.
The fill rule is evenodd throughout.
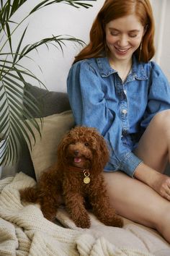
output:
<path id="1" fill-rule="evenodd" d="M 48 91 L 27 84 L 24 88 L 24 95 L 32 98 L 32 101 L 34 101 L 35 104 L 39 104 L 42 109 L 41 113 L 37 115 L 37 113 L 30 108 L 29 110 L 33 117 L 50 116 L 71 109 L 66 93 Z M 29 108 L 29 106 L 26 106 L 25 104 L 24 107 Z M 26 142 L 22 146 L 17 170 L 22 171 L 35 179 L 35 170 Z"/>

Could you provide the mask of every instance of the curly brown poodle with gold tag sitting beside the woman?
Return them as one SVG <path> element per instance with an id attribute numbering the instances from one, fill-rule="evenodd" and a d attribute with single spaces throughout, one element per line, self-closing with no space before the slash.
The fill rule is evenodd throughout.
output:
<path id="1" fill-rule="evenodd" d="M 40 203 L 45 218 L 54 221 L 62 196 L 71 219 L 81 228 L 90 227 L 88 200 L 99 221 L 122 227 L 122 218 L 109 204 L 102 176 L 108 159 L 107 144 L 97 129 L 75 127 L 58 145 L 57 163 L 40 176 L 36 187 L 21 190 L 21 199 Z"/>

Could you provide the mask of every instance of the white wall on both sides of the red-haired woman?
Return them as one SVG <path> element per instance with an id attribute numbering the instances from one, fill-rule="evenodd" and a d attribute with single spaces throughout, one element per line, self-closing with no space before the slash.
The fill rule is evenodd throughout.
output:
<path id="1" fill-rule="evenodd" d="M 27 1 L 15 18 L 24 17 L 24 14 L 38 2 L 40 1 Z M 73 35 L 88 43 L 91 24 L 103 3 L 104 0 L 91 1 L 93 7 L 89 9 L 76 9 L 62 3 L 41 9 L 33 14 L 29 20 L 24 44 L 34 43 L 51 35 Z M 152 0 L 152 4 L 156 18 L 157 54 L 155 60 L 161 65 L 170 80 L 170 1 Z M 16 42 L 19 34 L 21 34 L 21 30 L 14 35 Z M 54 46 L 50 46 L 49 50 L 42 46 L 39 48 L 38 54 L 36 51 L 30 54 L 35 62 L 28 59 L 22 61 L 22 64 L 31 69 L 49 90 L 66 91 L 68 69 L 71 67 L 73 57 L 81 49 L 80 46 L 73 43 L 66 43 L 66 45 L 67 47 L 63 48 L 64 55 Z M 42 72 L 37 65 L 41 67 Z M 30 82 L 32 81 L 30 80 Z"/>

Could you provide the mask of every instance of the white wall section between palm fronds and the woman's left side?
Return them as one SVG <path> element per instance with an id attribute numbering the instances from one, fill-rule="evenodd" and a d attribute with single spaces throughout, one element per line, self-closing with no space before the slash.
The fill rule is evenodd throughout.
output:
<path id="1" fill-rule="evenodd" d="M 31 9 L 30 7 L 33 7 L 38 2 L 40 1 L 27 1 L 15 19 L 19 20 L 20 17 L 24 17 L 24 14 Z M 53 4 L 35 12 L 29 18 L 29 26 L 24 44 L 34 43 L 37 40 L 51 37 L 52 35 L 73 35 L 88 43 L 91 24 L 103 3 L 104 0 L 91 1 L 93 7 L 89 9 L 83 7 L 77 9 L 62 3 Z M 19 35 L 20 33 L 21 30 L 17 31 L 16 35 L 14 35 L 16 42 L 21 36 Z M 63 46 L 64 54 L 54 46 L 49 47 L 48 50 L 45 46 L 41 46 L 38 48 L 38 53 L 34 51 L 30 54 L 35 62 L 24 59 L 22 64 L 31 69 L 45 83 L 49 90 L 66 91 L 68 70 L 71 67 L 74 56 L 81 50 L 81 46 L 68 42 L 66 47 Z M 37 64 L 42 69 L 42 72 L 37 67 Z M 30 82 L 32 81 L 30 80 Z"/>

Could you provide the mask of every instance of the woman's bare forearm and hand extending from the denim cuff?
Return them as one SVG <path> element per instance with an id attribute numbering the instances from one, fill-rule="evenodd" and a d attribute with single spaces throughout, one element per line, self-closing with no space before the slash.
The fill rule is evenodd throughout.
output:
<path id="1" fill-rule="evenodd" d="M 145 163 L 135 169 L 134 177 L 158 192 L 159 195 L 170 201 L 170 177 L 146 166 Z"/>

